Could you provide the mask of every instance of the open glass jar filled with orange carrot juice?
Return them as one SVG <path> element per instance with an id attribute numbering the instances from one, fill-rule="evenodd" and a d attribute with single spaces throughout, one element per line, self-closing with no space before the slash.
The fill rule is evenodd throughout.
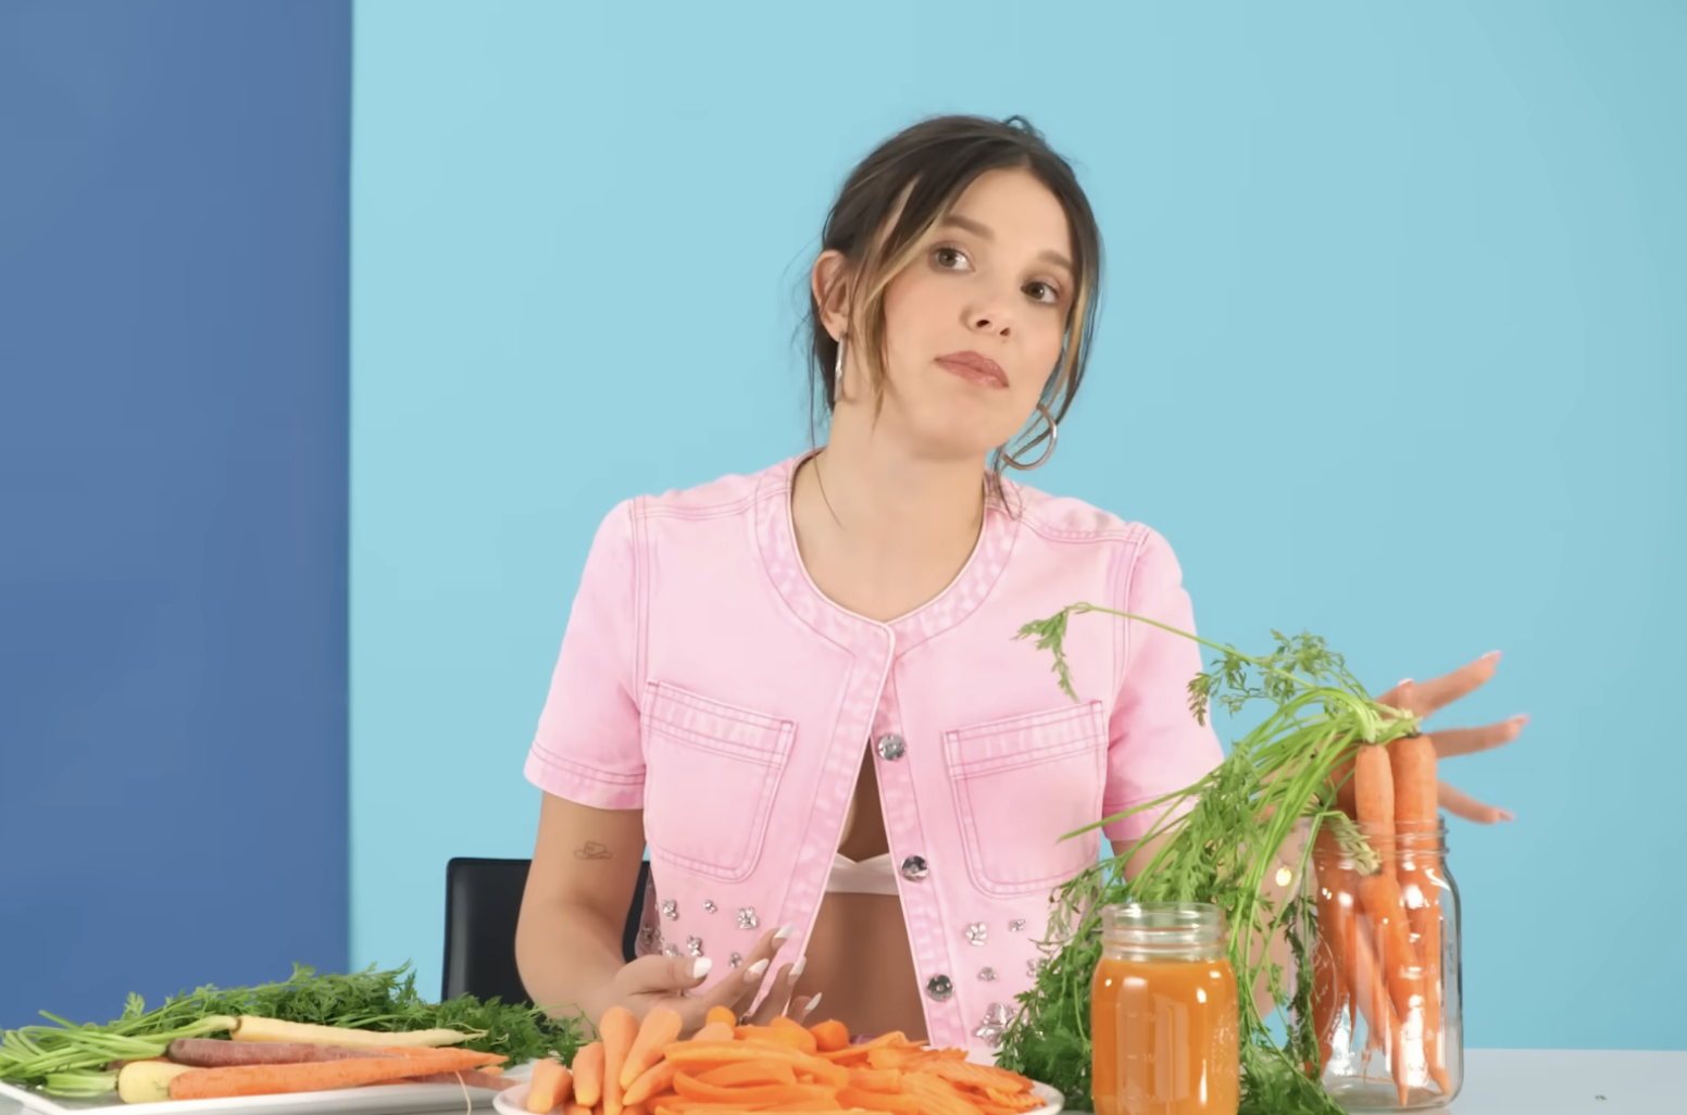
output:
<path id="1" fill-rule="evenodd" d="M 1107 906 L 1090 1034 L 1095 1115 L 1235 1115 L 1240 1015 L 1220 909 Z"/>

